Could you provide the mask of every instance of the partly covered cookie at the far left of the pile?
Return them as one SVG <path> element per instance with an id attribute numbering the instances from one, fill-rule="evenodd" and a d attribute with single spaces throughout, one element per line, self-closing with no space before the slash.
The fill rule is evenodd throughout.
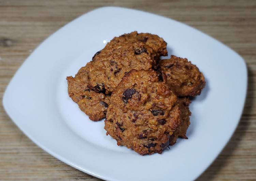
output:
<path id="1" fill-rule="evenodd" d="M 70 76 L 66 79 L 68 93 L 72 100 L 91 120 L 98 121 L 106 116 L 109 95 L 97 93 L 88 88 L 88 67 L 90 67 L 90 64 L 88 63 L 88 66 L 80 68 L 74 78 Z"/>

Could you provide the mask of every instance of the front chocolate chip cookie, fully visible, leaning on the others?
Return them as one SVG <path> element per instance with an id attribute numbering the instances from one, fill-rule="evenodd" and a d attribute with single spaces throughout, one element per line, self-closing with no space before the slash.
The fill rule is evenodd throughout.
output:
<path id="1" fill-rule="evenodd" d="M 162 153 L 181 124 L 178 98 L 159 73 L 131 70 L 110 97 L 104 128 L 118 145 L 144 155 Z"/>

